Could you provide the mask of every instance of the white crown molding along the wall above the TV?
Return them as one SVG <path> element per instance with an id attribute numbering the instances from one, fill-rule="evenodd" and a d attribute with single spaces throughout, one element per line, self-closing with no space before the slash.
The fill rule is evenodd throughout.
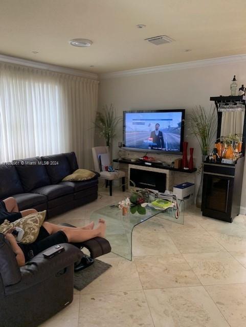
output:
<path id="1" fill-rule="evenodd" d="M 101 79 L 127 77 L 133 75 L 141 75 L 141 74 L 170 72 L 170 71 L 177 71 L 180 69 L 206 67 L 212 65 L 219 65 L 223 63 L 235 63 L 235 62 L 242 62 L 242 61 L 246 61 L 246 54 L 212 58 L 212 59 L 195 60 L 195 61 L 188 61 L 188 62 L 181 62 L 181 63 L 172 63 L 163 66 L 130 69 L 128 71 L 104 73 L 99 75 L 99 79 L 101 80 Z"/>

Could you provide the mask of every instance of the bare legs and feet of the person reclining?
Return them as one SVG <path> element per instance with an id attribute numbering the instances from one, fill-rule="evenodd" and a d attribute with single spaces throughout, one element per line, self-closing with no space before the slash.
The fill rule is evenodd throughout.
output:
<path id="1" fill-rule="evenodd" d="M 76 242 L 84 242 L 93 239 L 94 237 L 97 236 L 104 237 L 106 224 L 103 219 L 99 219 L 98 226 L 95 229 L 65 227 L 65 226 L 51 224 L 48 222 L 44 222 L 43 227 L 50 233 L 50 235 L 53 235 L 59 230 L 62 230 L 65 233 L 66 237 L 68 238 L 68 242 L 76 243 Z"/>

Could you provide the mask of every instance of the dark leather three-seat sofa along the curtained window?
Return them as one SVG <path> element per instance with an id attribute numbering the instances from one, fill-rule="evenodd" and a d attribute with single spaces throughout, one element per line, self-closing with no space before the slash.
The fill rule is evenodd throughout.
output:
<path id="1" fill-rule="evenodd" d="M 13 196 L 19 210 L 47 210 L 53 217 L 98 196 L 98 176 L 90 180 L 62 182 L 78 169 L 74 152 L 13 160 L 0 165 L 0 199 Z"/>

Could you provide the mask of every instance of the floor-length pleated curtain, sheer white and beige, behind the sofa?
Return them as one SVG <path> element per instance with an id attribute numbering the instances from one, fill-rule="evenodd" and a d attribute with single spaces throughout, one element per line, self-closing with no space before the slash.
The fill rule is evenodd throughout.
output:
<path id="1" fill-rule="evenodd" d="M 92 168 L 97 92 L 98 81 L 0 63 L 0 161 L 75 151 Z"/>

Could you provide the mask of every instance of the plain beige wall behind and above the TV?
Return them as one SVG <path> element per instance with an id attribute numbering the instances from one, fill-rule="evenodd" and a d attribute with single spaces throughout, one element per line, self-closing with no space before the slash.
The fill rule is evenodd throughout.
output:
<path id="1" fill-rule="evenodd" d="M 213 104 L 209 100 L 211 96 L 230 95 L 233 75 L 236 75 L 238 87 L 245 85 L 246 62 L 102 79 L 99 84 L 99 110 L 104 104 L 110 103 L 114 104 L 120 116 L 123 110 L 184 108 L 187 117 L 196 105 L 209 110 Z M 122 141 L 122 125 L 119 125 L 114 140 L 113 157 L 118 156 L 118 141 Z M 185 141 L 189 142 L 188 147 L 195 148 L 194 157 L 198 165 L 200 149 L 187 128 Z M 97 142 L 100 144 L 102 141 Z M 241 206 L 246 210 L 245 185 L 244 178 Z"/>

